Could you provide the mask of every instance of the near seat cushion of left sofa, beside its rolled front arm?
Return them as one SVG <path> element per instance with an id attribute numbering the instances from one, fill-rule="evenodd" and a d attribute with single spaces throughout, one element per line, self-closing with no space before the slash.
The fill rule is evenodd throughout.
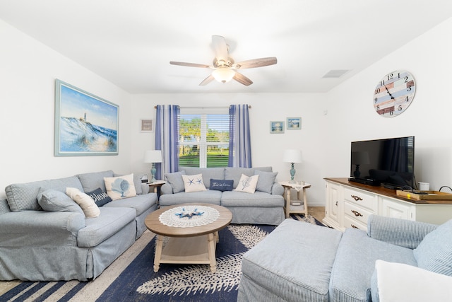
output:
<path id="1" fill-rule="evenodd" d="M 100 207 L 100 216 L 85 219 L 85 228 L 78 231 L 77 245 L 83 248 L 95 247 L 116 234 L 127 224 L 134 222 L 135 217 L 135 209 Z"/>

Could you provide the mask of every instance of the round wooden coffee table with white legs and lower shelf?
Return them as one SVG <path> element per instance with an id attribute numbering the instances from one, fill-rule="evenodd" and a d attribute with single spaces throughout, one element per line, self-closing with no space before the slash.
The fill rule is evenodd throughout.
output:
<path id="1" fill-rule="evenodd" d="M 216 209 L 220 216 L 215 221 L 203 226 L 175 227 L 161 223 L 159 217 L 165 211 L 175 207 L 202 206 Z M 157 234 L 157 247 L 154 257 L 154 272 L 160 269 L 160 263 L 208 264 L 210 271 L 216 272 L 215 259 L 218 231 L 225 228 L 232 220 L 232 213 L 216 204 L 177 204 L 153 211 L 145 219 L 149 231 Z M 169 237 L 163 248 L 163 238 Z"/>

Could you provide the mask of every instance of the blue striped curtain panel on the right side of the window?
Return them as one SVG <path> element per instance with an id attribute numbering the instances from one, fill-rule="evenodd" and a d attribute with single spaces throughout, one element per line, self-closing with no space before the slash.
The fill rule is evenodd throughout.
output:
<path id="1" fill-rule="evenodd" d="M 251 168 L 251 137 L 248 105 L 230 105 L 229 108 L 230 167 Z"/>

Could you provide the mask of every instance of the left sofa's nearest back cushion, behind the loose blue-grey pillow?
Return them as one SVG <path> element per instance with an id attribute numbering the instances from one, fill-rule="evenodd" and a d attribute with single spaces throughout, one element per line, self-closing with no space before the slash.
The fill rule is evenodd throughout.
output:
<path id="1" fill-rule="evenodd" d="M 40 210 L 41 206 L 37 203 L 37 194 L 41 189 L 66 192 L 66 187 L 76 187 L 83 190 L 80 180 L 76 176 L 71 176 L 69 178 L 16 183 L 8 185 L 5 192 L 11 211 Z"/>

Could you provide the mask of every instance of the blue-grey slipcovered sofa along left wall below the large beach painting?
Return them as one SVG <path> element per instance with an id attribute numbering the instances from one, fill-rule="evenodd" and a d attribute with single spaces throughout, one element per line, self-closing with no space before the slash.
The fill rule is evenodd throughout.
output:
<path id="1" fill-rule="evenodd" d="M 108 202 L 99 216 L 86 218 L 64 192 L 106 192 L 104 178 L 114 176 L 108 170 L 8 185 L 7 199 L 0 199 L 0 279 L 85 281 L 102 273 L 145 231 L 157 194 L 143 192 L 148 187 L 135 178 L 135 197 Z"/>

